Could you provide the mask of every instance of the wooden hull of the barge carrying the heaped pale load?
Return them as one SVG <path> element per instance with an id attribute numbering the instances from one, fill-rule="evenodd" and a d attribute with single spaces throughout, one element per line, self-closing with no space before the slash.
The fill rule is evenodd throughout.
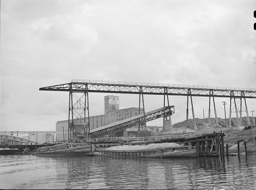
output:
<path id="1" fill-rule="evenodd" d="M 188 150 L 190 146 L 162 147 L 144 150 L 108 150 L 97 149 L 95 155 L 100 156 L 131 156 L 140 158 L 185 158 L 198 157 L 198 150 Z M 174 149 L 175 150 L 174 150 Z M 173 151 L 174 150 L 174 151 Z"/>

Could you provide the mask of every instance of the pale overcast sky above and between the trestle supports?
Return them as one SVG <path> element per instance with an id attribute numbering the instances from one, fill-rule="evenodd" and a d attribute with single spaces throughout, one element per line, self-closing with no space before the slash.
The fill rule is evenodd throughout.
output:
<path id="1" fill-rule="evenodd" d="M 0 3 L 1 131 L 55 131 L 69 94 L 39 88 L 71 79 L 256 88 L 255 1 Z M 104 114 L 106 95 L 89 93 L 90 116 Z M 139 95 L 113 95 L 120 109 L 139 106 Z M 144 100 L 145 111 L 163 107 L 161 96 Z M 185 120 L 186 97 L 169 100 L 172 123 Z M 208 116 L 208 101 L 193 98 L 196 117 Z M 229 99 L 215 101 L 225 118 Z M 252 116 L 256 100 L 247 106 Z"/>

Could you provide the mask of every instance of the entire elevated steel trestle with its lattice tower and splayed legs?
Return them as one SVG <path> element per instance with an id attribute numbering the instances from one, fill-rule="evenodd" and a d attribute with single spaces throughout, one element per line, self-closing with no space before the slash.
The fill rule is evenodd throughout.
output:
<path id="1" fill-rule="evenodd" d="M 165 107 L 165 96 L 167 97 L 167 105 L 169 105 L 169 95 L 175 96 L 187 96 L 187 109 L 186 109 L 186 121 L 188 125 L 188 104 L 189 97 L 192 106 L 192 116 L 194 121 L 194 129 L 197 130 L 194 108 L 192 103 L 192 96 L 197 97 L 209 97 L 209 116 L 210 121 L 210 103 L 211 98 L 213 100 L 214 114 L 216 123 L 218 126 L 217 112 L 215 108 L 214 98 L 225 97 L 230 98 L 230 109 L 229 109 L 229 126 L 231 126 L 231 112 L 235 109 L 238 125 L 241 124 L 242 117 L 242 104 L 245 104 L 245 111 L 247 115 L 248 125 L 250 124 L 249 114 L 246 105 L 246 98 L 256 98 L 256 89 L 253 88 L 229 88 L 229 87 L 217 87 L 217 86 L 194 86 L 194 85 L 169 85 L 160 83 L 137 83 L 137 82 L 117 82 L 117 81 L 96 81 L 96 80 L 79 80 L 72 79 L 70 83 L 61 85 L 54 85 L 48 87 L 39 88 L 43 91 L 68 91 L 69 92 L 69 134 L 68 138 L 74 138 L 74 129 L 80 134 L 84 134 L 90 138 L 90 121 L 86 122 L 85 118 L 89 120 L 89 99 L 88 92 L 101 92 L 101 93 L 122 93 L 122 94 L 138 94 L 139 95 L 139 108 L 141 104 L 140 97 L 142 96 L 143 109 L 144 99 L 143 95 L 164 95 L 164 106 Z M 234 108 L 231 107 L 231 102 L 234 103 Z M 240 120 L 238 117 L 238 109 L 240 105 Z M 140 109 L 139 109 L 140 110 Z M 144 109 L 145 110 L 145 109 Z M 170 109 L 161 116 L 163 120 L 167 120 L 169 116 L 170 126 L 172 111 Z M 140 115 L 140 112 L 139 112 Z M 140 125 L 146 125 L 146 117 L 144 113 L 143 121 L 140 120 Z"/>

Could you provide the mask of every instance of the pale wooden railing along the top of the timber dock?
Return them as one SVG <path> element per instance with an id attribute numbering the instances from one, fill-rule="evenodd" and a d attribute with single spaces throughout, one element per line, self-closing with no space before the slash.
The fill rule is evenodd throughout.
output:
<path id="1" fill-rule="evenodd" d="M 152 141 L 152 140 L 162 140 L 162 139 L 170 139 L 170 138 L 182 138 L 182 137 L 193 137 L 201 134 L 209 134 L 209 133 L 223 133 L 223 128 L 216 128 L 207 131 L 193 132 L 188 134 L 180 134 L 180 135 L 164 135 L 164 136 L 151 136 L 151 137 L 101 137 L 101 138 L 93 138 L 93 139 L 78 139 L 80 142 L 89 142 L 89 141 L 127 141 L 127 142 L 140 142 L 140 141 Z"/>

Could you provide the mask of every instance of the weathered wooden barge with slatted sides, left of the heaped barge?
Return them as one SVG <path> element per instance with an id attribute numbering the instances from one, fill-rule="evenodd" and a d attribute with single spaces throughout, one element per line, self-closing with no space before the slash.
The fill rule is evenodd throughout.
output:
<path id="1" fill-rule="evenodd" d="M 87 143 L 63 143 L 54 146 L 40 147 L 33 152 L 35 156 L 63 156 L 63 155 L 86 155 L 93 153 L 95 146 Z"/>

